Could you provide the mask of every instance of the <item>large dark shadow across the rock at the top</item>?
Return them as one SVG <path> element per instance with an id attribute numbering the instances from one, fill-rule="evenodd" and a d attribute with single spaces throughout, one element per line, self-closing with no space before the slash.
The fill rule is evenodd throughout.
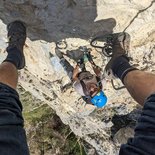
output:
<path id="1" fill-rule="evenodd" d="M 31 40 L 58 41 L 112 33 L 113 18 L 95 21 L 97 0 L 0 1 L 0 18 L 5 24 L 22 20 Z M 95 21 L 95 22 L 94 22 Z"/>

